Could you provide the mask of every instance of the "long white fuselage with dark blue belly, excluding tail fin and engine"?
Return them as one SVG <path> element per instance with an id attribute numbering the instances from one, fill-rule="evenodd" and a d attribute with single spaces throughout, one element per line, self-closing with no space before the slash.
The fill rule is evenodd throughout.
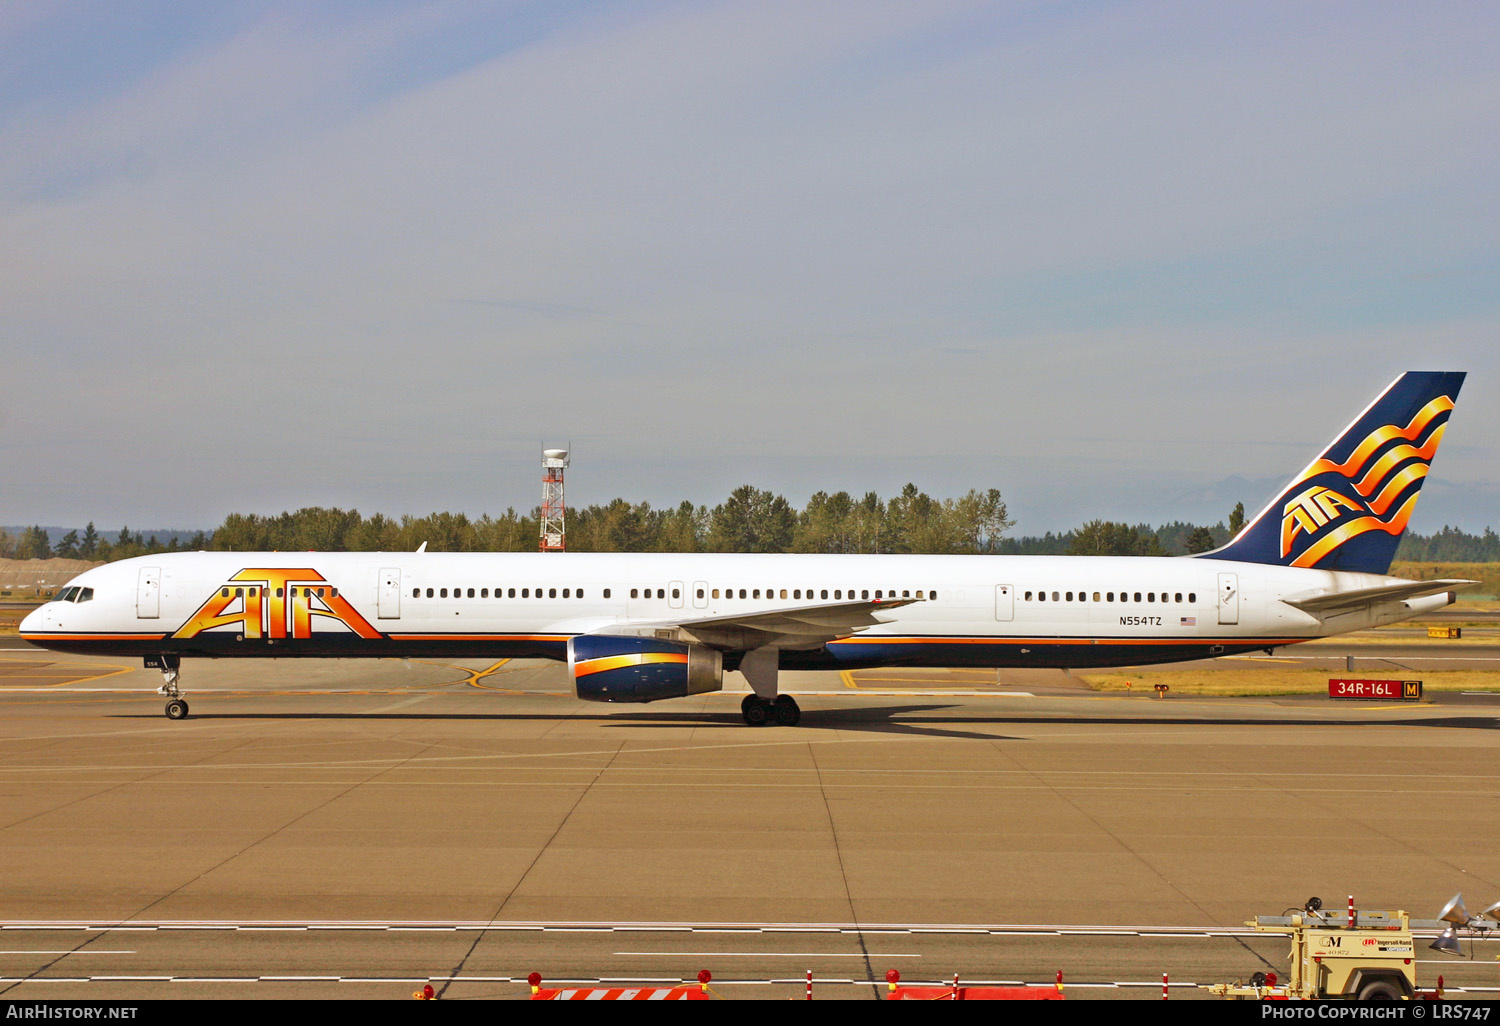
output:
<path id="1" fill-rule="evenodd" d="M 694 620 L 910 598 L 848 638 L 782 644 L 782 669 L 1094 668 L 1288 645 L 1452 600 L 1322 618 L 1282 602 L 1394 580 L 1152 556 L 180 552 L 86 572 L 70 584 L 88 598 L 48 603 L 22 634 L 111 656 L 561 660 L 570 638 L 620 627 L 693 640 Z"/>

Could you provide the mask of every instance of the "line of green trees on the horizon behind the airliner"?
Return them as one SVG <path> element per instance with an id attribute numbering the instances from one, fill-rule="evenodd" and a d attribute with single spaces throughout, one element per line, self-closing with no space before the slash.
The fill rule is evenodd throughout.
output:
<path id="1" fill-rule="evenodd" d="M 814 494 L 802 508 L 782 495 L 746 484 L 714 507 L 681 502 L 656 508 L 616 498 L 567 513 L 567 548 L 574 552 L 864 552 L 993 555 L 1188 555 L 1226 544 L 1245 524 L 1239 502 L 1226 520 L 1197 525 L 1173 520 L 1161 526 L 1089 520 L 1064 532 L 1008 537 L 1014 526 L 998 489 L 938 500 L 908 484 L 898 495 L 876 492 Z M 90 522 L 56 544 L 45 528 L 20 537 L 0 530 L 0 558 L 124 560 L 178 549 L 234 552 L 411 550 L 531 552 L 540 534 L 540 510 L 470 518 L 464 513 L 390 518 L 358 510 L 306 507 L 262 516 L 231 513 L 214 531 L 170 537 L 165 543 L 122 528 L 114 540 Z M 1419 562 L 1500 562 L 1500 536 L 1491 528 L 1467 534 L 1444 526 L 1436 534 L 1408 531 L 1396 560 Z"/>

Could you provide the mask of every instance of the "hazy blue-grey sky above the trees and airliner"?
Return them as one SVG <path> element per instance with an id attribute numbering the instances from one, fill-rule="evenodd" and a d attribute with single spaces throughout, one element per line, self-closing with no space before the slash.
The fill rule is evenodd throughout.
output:
<path id="1" fill-rule="evenodd" d="M 0 524 L 530 508 L 543 441 L 574 504 L 1164 520 L 1464 369 L 1414 525 L 1500 526 L 1497 54 L 1492 3 L 4 3 Z"/>

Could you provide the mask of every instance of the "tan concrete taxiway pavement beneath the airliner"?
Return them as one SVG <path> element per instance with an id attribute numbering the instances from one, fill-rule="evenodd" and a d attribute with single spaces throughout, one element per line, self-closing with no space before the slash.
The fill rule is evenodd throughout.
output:
<path id="1" fill-rule="evenodd" d="M 588 705 L 549 663 L 238 660 L 189 663 L 174 723 L 158 681 L 0 651 L 6 998 L 520 998 L 532 970 L 704 968 L 728 998 L 808 969 L 870 998 L 891 968 L 1202 996 L 1280 969 L 1242 921 L 1312 894 L 1500 897 L 1500 698 L 792 674 L 801 726 L 747 728 L 736 692 Z M 1422 948 L 1420 974 L 1492 998 L 1494 946 Z"/>

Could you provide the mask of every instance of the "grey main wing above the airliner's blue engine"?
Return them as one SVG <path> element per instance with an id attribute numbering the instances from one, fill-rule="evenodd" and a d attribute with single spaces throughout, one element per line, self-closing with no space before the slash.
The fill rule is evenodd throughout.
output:
<path id="1" fill-rule="evenodd" d="M 628 626 L 602 627 L 600 634 L 646 634 L 662 638 L 670 632 L 674 639 L 696 640 L 702 645 L 728 650 L 760 648 L 818 648 L 840 638 L 849 638 L 866 627 L 884 624 L 890 618 L 884 610 L 909 606 L 922 598 L 872 598 L 861 602 L 832 602 L 816 606 L 789 606 L 784 609 L 746 610 L 728 616 L 705 616 L 700 620 L 672 620 L 633 622 Z"/>

